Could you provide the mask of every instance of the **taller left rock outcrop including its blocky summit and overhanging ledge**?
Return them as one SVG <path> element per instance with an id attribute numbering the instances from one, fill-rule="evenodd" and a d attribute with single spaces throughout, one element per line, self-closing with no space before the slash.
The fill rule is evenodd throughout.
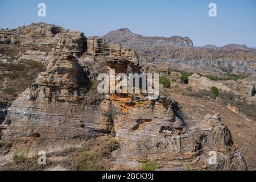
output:
<path id="1" fill-rule="evenodd" d="M 1 135 L 3 140 L 14 140 L 14 146 L 20 140 L 91 138 L 108 133 L 109 123 L 101 107 L 87 102 L 95 78 L 87 60 L 97 62 L 104 56 L 108 64 L 114 60 L 121 65 L 133 64 L 132 69 L 138 67 L 138 61 L 137 65 L 132 63 L 137 59 L 134 51 L 110 45 L 104 39 L 85 39 L 82 32 L 75 31 L 65 36 L 57 34 L 54 39 L 47 71 L 8 109 Z M 32 53 L 36 55 L 35 51 Z M 28 59 L 28 55 L 31 51 L 20 60 Z M 39 55 L 42 53 L 32 58 L 40 58 Z"/>

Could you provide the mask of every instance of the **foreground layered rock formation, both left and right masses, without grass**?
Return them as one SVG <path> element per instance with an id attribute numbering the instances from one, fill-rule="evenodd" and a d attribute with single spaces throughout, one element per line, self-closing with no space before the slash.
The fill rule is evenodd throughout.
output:
<path id="1" fill-rule="evenodd" d="M 1 140 L 11 143 L 10 151 L 20 144 L 68 144 L 111 135 L 121 146 L 113 154 L 114 164 L 126 169 L 148 161 L 159 169 L 247 169 L 218 114 L 202 121 L 176 101 L 164 96 L 148 100 L 146 94 L 106 94 L 98 104 L 89 102 L 97 94 L 93 83 L 99 73 L 142 72 L 136 52 L 102 38 L 85 38 L 82 32 L 39 25 L 19 30 L 47 36 L 54 47 L 47 71 L 7 109 Z M 209 164 L 210 151 L 218 156 L 214 165 Z"/>

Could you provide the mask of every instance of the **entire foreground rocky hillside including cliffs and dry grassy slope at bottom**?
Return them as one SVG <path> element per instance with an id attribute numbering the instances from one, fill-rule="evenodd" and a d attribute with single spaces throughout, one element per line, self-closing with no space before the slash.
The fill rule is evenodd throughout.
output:
<path id="1" fill-rule="evenodd" d="M 145 70 L 132 49 L 45 23 L 2 30 L 2 36 L 3 64 L 36 61 L 46 69 L 18 90 L 10 107 L 0 102 L 0 169 L 247 170 L 217 112 L 200 118 L 163 88 L 155 100 L 98 94 L 99 73 Z M 162 40 L 192 46 L 188 38 Z M 6 47 L 18 54 L 11 56 Z M 36 164 L 41 150 L 50 157 L 46 166 Z M 216 164 L 209 164 L 210 152 Z"/>

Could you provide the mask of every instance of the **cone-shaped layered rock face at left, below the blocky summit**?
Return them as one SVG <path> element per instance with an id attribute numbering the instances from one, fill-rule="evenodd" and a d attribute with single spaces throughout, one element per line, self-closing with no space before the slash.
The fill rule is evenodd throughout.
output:
<path id="1" fill-rule="evenodd" d="M 2 139 L 72 139 L 89 137 L 89 133 L 97 135 L 102 130 L 100 109 L 80 103 L 88 84 L 74 57 L 64 53 L 53 57 L 47 72 L 9 107 L 10 122 L 4 123 Z"/>

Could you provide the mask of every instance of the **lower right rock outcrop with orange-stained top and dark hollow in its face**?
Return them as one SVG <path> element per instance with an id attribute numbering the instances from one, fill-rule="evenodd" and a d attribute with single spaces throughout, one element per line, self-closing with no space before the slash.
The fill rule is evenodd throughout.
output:
<path id="1" fill-rule="evenodd" d="M 114 119 L 115 136 L 121 143 L 116 163 L 121 166 L 133 169 L 157 161 L 163 170 L 247 169 L 219 115 L 208 115 L 205 122 L 186 118 L 177 103 L 165 97 L 156 101 L 115 97 L 112 104 L 122 106 L 122 114 Z M 214 165 L 209 164 L 212 151 L 218 156 Z"/>

